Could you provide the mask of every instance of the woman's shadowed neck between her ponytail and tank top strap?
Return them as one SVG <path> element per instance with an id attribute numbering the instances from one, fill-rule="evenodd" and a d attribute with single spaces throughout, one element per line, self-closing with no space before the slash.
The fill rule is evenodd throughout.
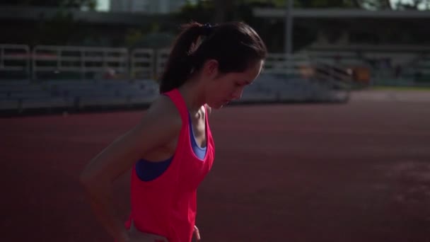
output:
<path id="1" fill-rule="evenodd" d="M 197 80 L 197 78 L 187 80 L 182 86 L 180 86 L 179 91 L 185 100 L 185 105 L 187 105 L 188 111 L 193 115 L 196 114 L 202 105 L 204 105 L 204 88 L 199 83 L 202 81 Z"/>

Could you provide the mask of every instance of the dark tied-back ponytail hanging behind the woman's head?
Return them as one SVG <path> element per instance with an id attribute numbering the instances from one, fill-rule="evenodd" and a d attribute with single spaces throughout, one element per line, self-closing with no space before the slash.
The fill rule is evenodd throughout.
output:
<path id="1" fill-rule="evenodd" d="M 206 34 L 207 25 L 192 22 L 182 25 L 182 32 L 170 51 L 165 71 L 160 79 L 160 93 L 180 87 L 192 73 L 192 52 L 197 49 L 199 36 Z"/>

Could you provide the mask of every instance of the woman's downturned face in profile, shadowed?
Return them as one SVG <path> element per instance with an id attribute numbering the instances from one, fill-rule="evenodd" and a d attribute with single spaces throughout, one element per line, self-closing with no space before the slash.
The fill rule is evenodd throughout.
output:
<path id="1" fill-rule="evenodd" d="M 209 79 L 207 85 L 207 104 L 211 108 L 218 109 L 231 100 L 240 99 L 245 86 L 250 85 L 260 74 L 262 65 L 263 61 L 259 61 L 244 72 L 219 74 L 217 63 L 215 63 L 215 73 L 212 73 L 212 78 Z"/>

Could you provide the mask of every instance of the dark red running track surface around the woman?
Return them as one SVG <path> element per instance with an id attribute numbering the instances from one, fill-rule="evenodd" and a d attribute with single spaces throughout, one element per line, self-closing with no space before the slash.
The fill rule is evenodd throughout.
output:
<path id="1" fill-rule="evenodd" d="M 144 111 L 0 120 L 1 241 L 112 241 L 78 184 Z M 430 104 L 236 106 L 211 117 L 202 241 L 429 241 Z M 115 183 L 124 218 L 129 173 Z"/>

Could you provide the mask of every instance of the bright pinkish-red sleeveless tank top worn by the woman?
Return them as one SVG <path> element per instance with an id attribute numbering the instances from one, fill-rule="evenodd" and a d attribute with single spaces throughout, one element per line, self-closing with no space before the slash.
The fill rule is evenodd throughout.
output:
<path id="1" fill-rule="evenodd" d="M 169 167 L 150 181 L 143 181 L 132 168 L 131 220 L 139 231 L 158 234 L 169 242 L 190 242 L 197 212 L 197 187 L 211 169 L 214 161 L 214 141 L 205 112 L 207 151 L 204 159 L 197 158 L 192 150 L 189 114 L 178 89 L 164 93 L 182 119 L 178 145 Z"/>

